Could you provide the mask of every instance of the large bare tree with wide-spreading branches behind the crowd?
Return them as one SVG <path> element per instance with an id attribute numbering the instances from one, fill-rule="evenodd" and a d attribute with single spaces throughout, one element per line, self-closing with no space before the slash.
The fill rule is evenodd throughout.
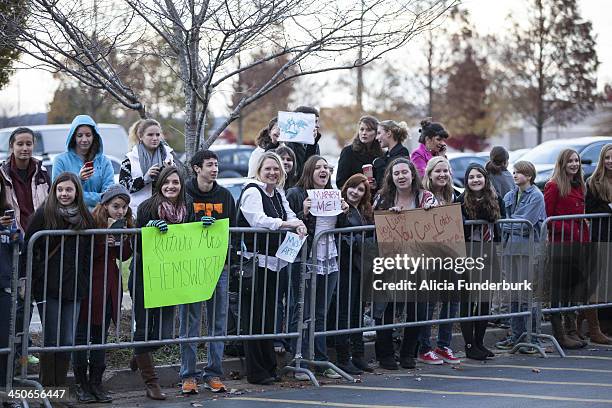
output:
<path id="1" fill-rule="evenodd" d="M 98 0 L 96 14 L 87 1 L 31 0 L 27 24 L 12 28 L 20 51 L 33 56 L 39 67 L 104 89 L 143 117 L 142 95 L 121 80 L 122 67 L 109 56 L 158 57 L 183 86 L 190 157 L 274 88 L 304 75 L 366 65 L 406 44 L 456 1 L 364 0 L 363 7 L 354 7 L 339 0 Z M 163 39 L 161 47 L 154 37 Z M 354 50 L 360 45 L 356 61 Z M 260 48 L 269 52 L 248 59 Z M 213 97 L 231 92 L 240 73 L 281 57 L 286 62 L 235 101 L 221 127 L 201 140 Z"/>

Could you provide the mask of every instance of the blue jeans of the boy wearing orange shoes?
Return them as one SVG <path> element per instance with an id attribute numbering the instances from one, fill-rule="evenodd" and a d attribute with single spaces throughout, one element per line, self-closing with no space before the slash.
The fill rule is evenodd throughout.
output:
<path id="1" fill-rule="evenodd" d="M 206 323 L 209 336 L 225 336 L 227 326 L 228 272 L 224 269 L 217 281 L 213 296 L 204 302 L 179 306 L 180 338 L 200 337 L 202 328 L 202 303 L 206 305 Z M 208 365 L 203 377 L 221 377 L 223 375 L 222 341 L 208 342 Z M 181 343 L 181 378 L 197 377 L 201 373 L 196 368 L 197 343 Z"/>

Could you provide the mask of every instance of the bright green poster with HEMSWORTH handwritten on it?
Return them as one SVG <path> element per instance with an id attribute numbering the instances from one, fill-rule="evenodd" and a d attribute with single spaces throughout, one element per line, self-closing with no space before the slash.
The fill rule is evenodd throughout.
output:
<path id="1" fill-rule="evenodd" d="M 142 229 L 145 308 L 201 302 L 212 297 L 223 271 L 229 220 L 210 227 L 201 222 Z"/>

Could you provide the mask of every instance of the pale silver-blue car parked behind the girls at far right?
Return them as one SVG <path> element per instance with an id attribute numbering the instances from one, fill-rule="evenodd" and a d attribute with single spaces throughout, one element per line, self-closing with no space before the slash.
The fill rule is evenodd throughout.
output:
<path id="1" fill-rule="evenodd" d="M 549 140 L 525 153 L 521 160 L 529 161 L 535 165 L 537 172 L 535 184 L 540 189 L 544 189 L 544 184 L 552 176 L 555 162 L 561 150 L 570 148 L 578 152 L 582 162 L 584 177 L 587 179 L 595 171 L 597 160 L 599 160 L 599 153 L 607 143 L 612 143 L 612 136 Z"/>

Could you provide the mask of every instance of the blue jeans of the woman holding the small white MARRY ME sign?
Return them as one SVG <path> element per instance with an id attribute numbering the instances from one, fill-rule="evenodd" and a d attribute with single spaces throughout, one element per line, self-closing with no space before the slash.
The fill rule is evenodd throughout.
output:
<path id="1" fill-rule="evenodd" d="M 325 323 L 327 322 L 327 311 L 331 304 L 334 292 L 336 290 L 336 284 L 338 283 L 338 272 L 333 272 L 327 275 L 317 274 L 317 293 L 315 299 L 315 316 L 314 325 L 315 332 L 322 332 L 325 330 Z M 304 321 L 310 319 L 310 285 L 306 287 L 305 299 L 304 299 Z M 307 357 L 309 335 L 308 331 L 304 333 L 304 339 L 302 341 L 302 356 Z M 315 355 L 314 359 L 317 361 L 327 361 L 327 345 L 325 336 L 315 337 L 314 341 Z M 292 342 L 293 349 L 295 349 L 295 339 Z"/>

